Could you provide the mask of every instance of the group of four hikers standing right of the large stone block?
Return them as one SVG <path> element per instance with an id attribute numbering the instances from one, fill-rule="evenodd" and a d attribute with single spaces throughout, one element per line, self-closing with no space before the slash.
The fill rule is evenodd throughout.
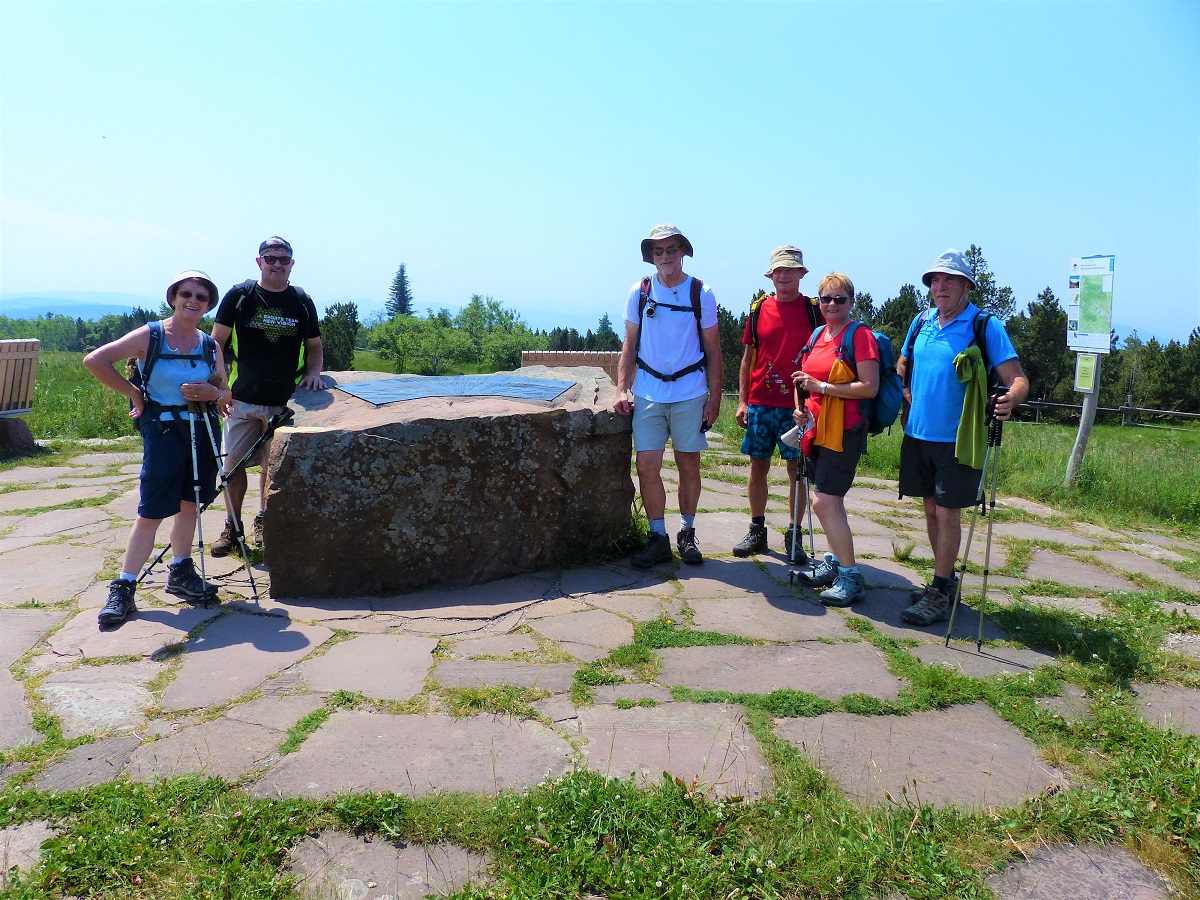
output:
<path id="1" fill-rule="evenodd" d="M 661 474 L 670 438 L 679 476 L 676 548 L 684 563 L 700 565 L 700 451 L 720 413 L 724 376 L 716 299 L 684 272 L 692 245 L 674 226 L 655 226 L 641 250 L 655 272 L 636 283 L 625 302 L 613 406 L 632 415 L 649 520 L 646 547 L 630 563 L 648 569 L 673 558 Z M 889 427 L 902 406 L 900 496 L 924 503 L 934 578 L 912 593 L 901 618 L 917 625 L 942 622 L 955 587 L 961 510 L 976 503 L 980 488 L 986 426 L 1012 416 L 1028 394 L 1028 380 L 1003 325 L 970 301 L 974 274 L 958 251 L 946 251 L 924 272 L 932 306 L 913 319 L 899 359 L 886 335 L 852 318 L 854 284 L 846 275 L 824 276 L 810 298 L 800 290 L 808 271 L 799 247 L 772 252 L 764 275 L 775 290 L 751 302 L 742 337 L 734 418 L 745 428 L 742 452 L 750 457 L 750 529 L 733 554 L 768 550 L 768 474 L 778 451 L 788 473 L 784 550 L 797 576 L 822 589 L 827 606 L 863 599 L 845 497 L 868 434 Z M 810 490 L 810 521 L 815 512 L 829 546 L 820 560 L 798 546 Z"/>

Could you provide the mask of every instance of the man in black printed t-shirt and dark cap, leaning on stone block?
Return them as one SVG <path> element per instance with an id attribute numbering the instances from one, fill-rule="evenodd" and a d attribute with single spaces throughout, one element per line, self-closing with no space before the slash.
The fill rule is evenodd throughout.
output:
<path id="1" fill-rule="evenodd" d="M 229 385 L 233 408 L 226 420 L 224 449 L 228 473 L 266 431 L 272 415 L 283 412 L 298 386 L 323 390 L 320 378 L 324 350 L 317 308 L 304 289 L 288 283 L 292 272 L 292 245 L 282 238 L 268 238 L 258 246 L 258 281 L 246 281 L 229 289 L 217 308 L 212 337 L 233 361 Z M 301 353 L 302 352 L 302 353 Z M 247 464 L 260 466 L 259 510 L 253 535 L 263 542 L 263 512 L 266 505 L 271 442 L 265 442 Z M 241 532 L 241 503 L 246 496 L 246 469 L 229 478 L 224 532 L 210 552 L 223 557 L 238 552 Z"/>

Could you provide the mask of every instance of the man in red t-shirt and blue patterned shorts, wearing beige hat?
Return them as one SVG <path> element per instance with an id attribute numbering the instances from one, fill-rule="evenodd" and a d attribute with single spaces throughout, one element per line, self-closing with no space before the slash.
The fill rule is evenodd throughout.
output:
<path id="1" fill-rule="evenodd" d="M 775 293 L 751 304 L 742 343 L 742 371 L 738 376 L 738 425 L 746 430 L 742 452 L 750 457 L 750 530 L 733 547 L 733 556 L 749 557 L 767 551 L 767 475 L 770 461 L 779 455 L 787 463 L 791 479 L 787 494 L 788 515 L 794 516 L 796 476 L 799 451 L 779 438 L 792 428 L 794 397 L 792 372 L 797 356 L 823 319 L 811 298 L 800 293 L 800 278 L 808 274 L 799 247 L 786 245 L 770 254 L 764 275 L 775 286 Z M 804 503 L 803 494 L 800 503 Z M 803 511 L 803 506 L 800 508 Z M 791 552 L 794 518 L 787 526 L 784 550 Z M 797 547 L 798 565 L 806 565 L 808 557 Z"/>

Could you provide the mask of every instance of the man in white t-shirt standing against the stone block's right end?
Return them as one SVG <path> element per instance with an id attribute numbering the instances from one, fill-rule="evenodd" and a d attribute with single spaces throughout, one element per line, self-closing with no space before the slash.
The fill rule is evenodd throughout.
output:
<path id="1" fill-rule="evenodd" d="M 696 545 L 700 451 L 708 446 L 704 432 L 721 412 L 721 348 L 716 298 L 698 278 L 684 272 L 685 256 L 692 256 L 691 242 L 679 229 L 655 226 L 642 241 L 642 260 L 656 271 L 634 284 L 625 304 L 625 342 L 613 410 L 634 416 L 637 481 L 650 521 L 646 548 L 630 558 L 638 569 L 671 560 L 662 485 L 668 437 L 679 470 L 676 546 L 683 562 L 704 562 Z"/>

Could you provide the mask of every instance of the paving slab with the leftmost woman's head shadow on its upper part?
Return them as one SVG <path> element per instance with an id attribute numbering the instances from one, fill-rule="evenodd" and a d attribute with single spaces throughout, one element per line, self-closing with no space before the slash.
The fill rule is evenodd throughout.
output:
<path id="1" fill-rule="evenodd" d="M 300 661 L 332 634 L 277 616 L 222 616 L 187 643 L 162 706 L 192 709 L 223 703 Z"/>

